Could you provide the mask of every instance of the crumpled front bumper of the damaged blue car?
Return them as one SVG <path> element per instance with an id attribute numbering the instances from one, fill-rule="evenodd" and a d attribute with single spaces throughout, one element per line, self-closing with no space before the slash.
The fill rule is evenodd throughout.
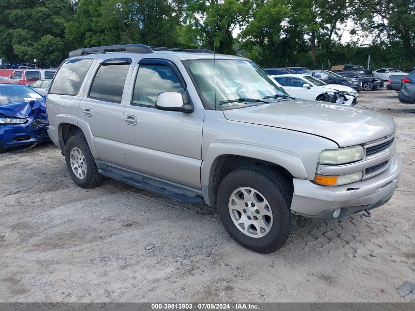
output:
<path id="1" fill-rule="evenodd" d="M 49 141 L 46 114 L 36 114 L 27 120 L 24 124 L 0 125 L 0 143 L 3 148 Z"/>

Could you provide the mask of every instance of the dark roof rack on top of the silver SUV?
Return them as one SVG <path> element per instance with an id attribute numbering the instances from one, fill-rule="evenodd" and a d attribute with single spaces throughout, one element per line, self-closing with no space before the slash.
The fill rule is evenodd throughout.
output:
<path id="1" fill-rule="evenodd" d="M 149 47 L 144 44 L 121 44 L 121 45 L 106 45 L 101 47 L 82 48 L 69 52 L 69 57 L 83 56 L 88 54 L 105 54 L 111 50 L 125 50 L 127 53 L 148 54 L 154 51 L 171 51 L 171 52 L 188 52 L 188 53 L 214 53 L 207 49 L 178 49 L 178 48 L 164 48 L 164 47 Z"/>

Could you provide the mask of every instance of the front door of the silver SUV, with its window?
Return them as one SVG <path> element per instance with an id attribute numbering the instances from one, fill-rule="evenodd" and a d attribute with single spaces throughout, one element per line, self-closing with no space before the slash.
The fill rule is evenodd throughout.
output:
<path id="1" fill-rule="evenodd" d="M 179 92 L 191 104 L 186 89 L 171 61 L 139 61 L 130 103 L 124 110 L 124 153 L 133 170 L 200 189 L 204 110 L 182 113 L 155 107 L 162 92 Z"/>

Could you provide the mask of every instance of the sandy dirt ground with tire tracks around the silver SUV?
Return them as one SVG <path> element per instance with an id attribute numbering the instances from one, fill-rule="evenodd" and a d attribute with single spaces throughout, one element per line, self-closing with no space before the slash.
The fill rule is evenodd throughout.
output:
<path id="1" fill-rule="evenodd" d="M 395 288 L 415 283 L 415 106 L 386 89 L 358 105 L 396 122 L 397 191 L 371 218 L 305 221 L 275 254 L 240 247 L 205 205 L 81 189 L 53 144 L 1 154 L 0 301 L 409 302 Z"/>

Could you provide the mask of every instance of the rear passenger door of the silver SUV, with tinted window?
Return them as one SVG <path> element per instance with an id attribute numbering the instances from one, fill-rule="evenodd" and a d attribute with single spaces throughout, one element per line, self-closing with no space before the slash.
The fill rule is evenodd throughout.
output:
<path id="1" fill-rule="evenodd" d="M 110 58 L 97 65 L 87 85 L 79 115 L 89 125 L 100 160 L 126 166 L 123 142 L 123 101 L 125 81 L 131 65 L 129 58 Z"/>

